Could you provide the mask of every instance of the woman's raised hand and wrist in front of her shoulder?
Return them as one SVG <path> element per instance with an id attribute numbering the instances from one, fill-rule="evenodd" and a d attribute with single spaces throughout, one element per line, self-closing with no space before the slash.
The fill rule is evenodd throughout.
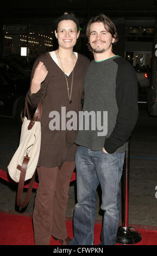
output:
<path id="1" fill-rule="evenodd" d="M 41 83 L 45 80 L 47 74 L 48 71 L 46 66 L 43 64 L 43 62 L 39 62 L 35 69 L 32 83 L 30 86 L 31 93 L 37 93 L 40 90 Z"/>

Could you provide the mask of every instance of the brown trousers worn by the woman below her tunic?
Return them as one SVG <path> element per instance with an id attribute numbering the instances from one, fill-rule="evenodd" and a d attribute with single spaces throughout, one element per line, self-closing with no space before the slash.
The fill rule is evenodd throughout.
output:
<path id="1" fill-rule="evenodd" d="M 33 212 L 35 245 L 49 245 L 51 235 L 58 239 L 67 237 L 65 216 L 74 168 L 74 162 L 64 162 L 60 169 L 37 167 L 39 187 Z"/>

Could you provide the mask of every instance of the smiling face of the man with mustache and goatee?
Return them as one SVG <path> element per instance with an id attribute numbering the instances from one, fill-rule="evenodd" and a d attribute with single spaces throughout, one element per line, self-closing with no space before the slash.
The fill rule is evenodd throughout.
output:
<path id="1" fill-rule="evenodd" d="M 112 43 L 115 38 L 106 31 L 102 22 L 95 22 L 90 27 L 90 45 L 95 53 L 103 53 L 112 50 Z"/>

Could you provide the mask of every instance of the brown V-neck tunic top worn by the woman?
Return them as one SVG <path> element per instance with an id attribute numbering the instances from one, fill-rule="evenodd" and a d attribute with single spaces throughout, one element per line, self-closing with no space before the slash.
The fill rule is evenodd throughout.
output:
<path id="1" fill-rule="evenodd" d="M 33 65 L 32 78 L 39 62 L 43 62 L 48 70 L 48 75 L 41 83 L 41 89 L 31 94 L 27 93 L 29 105 L 37 107 L 42 97 L 42 118 L 41 118 L 41 150 L 37 166 L 61 167 L 65 161 L 74 161 L 77 145 L 74 140 L 77 130 L 61 130 L 61 107 L 66 107 L 68 111 L 81 111 L 81 99 L 83 97 L 83 82 L 89 59 L 78 53 L 78 59 L 73 70 L 72 103 L 68 99 L 67 84 L 64 72 L 54 62 L 50 54 L 41 54 Z M 71 90 L 72 72 L 67 77 L 68 87 Z M 31 81 L 32 81 L 31 78 Z M 65 109 L 65 108 L 64 108 Z M 60 130 L 50 130 L 49 122 L 53 118 L 49 117 L 51 111 L 58 111 L 60 114 Z M 62 117 L 64 118 L 64 117 Z M 71 118 L 66 118 L 66 121 Z M 55 124 L 54 124 L 55 125 Z M 78 124 L 77 124 L 78 125 Z"/>

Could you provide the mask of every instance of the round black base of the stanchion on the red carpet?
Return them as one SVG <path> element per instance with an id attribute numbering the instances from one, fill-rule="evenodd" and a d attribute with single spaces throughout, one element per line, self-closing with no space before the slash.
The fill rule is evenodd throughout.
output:
<path id="1" fill-rule="evenodd" d="M 117 231 L 117 243 L 123 243 L 124 245 L 132 245 L 142 240 L 142 235 L 134 228 L 119 227 Z"/>

